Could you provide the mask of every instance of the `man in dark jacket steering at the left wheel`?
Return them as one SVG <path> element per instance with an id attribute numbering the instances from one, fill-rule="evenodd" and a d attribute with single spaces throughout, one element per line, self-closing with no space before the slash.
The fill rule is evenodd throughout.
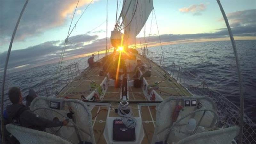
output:
<path id="1" fill-rule="evenodd" d="M 45 131 L 45 128 L 66 126 L 68 124 L 68 120 L 52 121 L 39 117 L 30 111 L 27 106 L 22 104 L 21 91 L 18 87 L 10 88 L 8 95 L 12 104 L 7 106 L 6 112 L 9 120 L 16 125 Z"/>

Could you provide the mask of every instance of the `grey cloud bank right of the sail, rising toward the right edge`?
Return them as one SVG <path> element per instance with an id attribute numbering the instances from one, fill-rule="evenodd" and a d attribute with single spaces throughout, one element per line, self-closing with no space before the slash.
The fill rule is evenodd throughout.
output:
<path id="1" fill-rule="evenodd" d="M 227 17 L 230 26 L 232 26 L 231 30 L 234 36 L 256 36 L 256 9 L 228 13 Z M 219 19 L 219 21 L 225 25 L 223 18 Z M 217 32 L 214 33 L 164 34 L 160 35 L 160 37 L 162 42 L 170 42 L 188 39 L 229 37 L 229 34 L 225 27 L 217 29 Z M 159 37 L 157 35 L 150 36 L 149 42 L 159 42 Z"/>

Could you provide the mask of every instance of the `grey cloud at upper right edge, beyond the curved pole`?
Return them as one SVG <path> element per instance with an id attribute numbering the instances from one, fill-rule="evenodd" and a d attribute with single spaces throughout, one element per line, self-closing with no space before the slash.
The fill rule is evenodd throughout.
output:
<path id="1" fill-rule="evenodd" d="M 256 25 L 256 9 L 236 11 L 227 14 L 231 27 L 255 26 Z M 224 21 L 220 18 L 218 21 Z"/>

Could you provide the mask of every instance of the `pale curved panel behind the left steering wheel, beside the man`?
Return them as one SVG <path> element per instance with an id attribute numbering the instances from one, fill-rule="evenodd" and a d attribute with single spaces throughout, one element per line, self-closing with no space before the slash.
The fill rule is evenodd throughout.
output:
<path id="1" fill-rule="evenodd" d="M 57 109 L 51 104 L 59 103 Z M 80 141 L 95 143 L 92 129 L 92 115 L 84 102 L 75 99 L 60 99 L 36 97 L 30 105 L 30 110 L 49 120 L 63 121 L 69 119 L 69 124 L 62 127 L 47 128 L 46 132 L 60 136 L 72 143 Z"/>

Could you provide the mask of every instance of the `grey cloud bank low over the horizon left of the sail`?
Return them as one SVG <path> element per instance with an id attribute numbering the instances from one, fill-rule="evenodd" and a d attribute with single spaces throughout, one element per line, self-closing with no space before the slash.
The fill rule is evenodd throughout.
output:
<path id="1" fill-rule="evenodd" d="M 72 36 L 70 38 L 76 38 L 76 37 L 77 36 Z M 95 40 L 97 37 L 98 36 L 96 35 L 90 36 L 85 34 L 79 37 L 81 39 L 79 38 L 78 40 L 74 39 L 74 44 L 82 43 L 81 41 L 82 39 L 83 39 L 83 42 L 90 42 L 93 40 L 98 42 L 99 40 Z M 106 41 L 105 43 L 102 42 L 102 46 L 105 44 L 106 44 Z M 97 44 L 97 46 L 98 46 L 98 49 L 102 48 L 102 46 L 99 44 Z M 92 47 L 92 48 L 88 46 L 87 47 L 81 46 L 81 47 L 91 51 L 97 50 L 95 47 Z M 60 58 L 62 48 L 63 48 L 63 42 L 58 40 L 58 41 L 44 42 L 39 45 L 28 47 L 26 49 L 12 50 L 9 58 L 8 68 L 9 69 L 15 68 L 15 67 L 19 68 L 19 66 L 22 66 L 22 65 L 35 67 L 36 65 L 40 65 L 42 63 L 45 64 L 45 63 L 57 62 Z M 84 54 L 84 53 L 88 53 L 88 52 L 83 49 L 79 49 L 72 44 L 68 44 L 66 47 L 65 57 L 67 56 L 70 57 L 70 56 Z M 7 54 L 7 51 L 0 53 L 1 68 L 3 68 L 4 66 L 6 54 Z"/>

